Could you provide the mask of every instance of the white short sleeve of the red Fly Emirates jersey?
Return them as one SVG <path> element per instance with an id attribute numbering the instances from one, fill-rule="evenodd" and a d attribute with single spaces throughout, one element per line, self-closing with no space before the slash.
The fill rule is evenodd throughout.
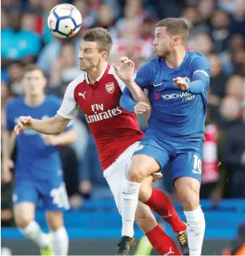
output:
<path id="1" fill-rule="evenodd" d="M 76 83 L 69 83 L 67 90 L 64 93 L 64 99 L 60 106 L 60 109 L 57 111 L 57 114 L 60 117 L 64 117 L 66 119 L 73 119 L 77 115 L 79 111 L 79 106 L 77 102 L 75 102 L 74 98 L 74 90 L 76 87 Z"/>

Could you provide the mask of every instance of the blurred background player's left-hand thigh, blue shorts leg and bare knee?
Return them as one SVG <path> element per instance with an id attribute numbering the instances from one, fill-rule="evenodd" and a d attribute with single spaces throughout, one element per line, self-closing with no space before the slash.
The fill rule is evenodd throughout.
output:
<path id="1" fill-rule="evenodd" d="M 13 215 L 16 225 L 27 226 L 35 218 L 35 206 L 38 203 L 38 191 L 31 180 L 16 180 L 13 188 Z"/>

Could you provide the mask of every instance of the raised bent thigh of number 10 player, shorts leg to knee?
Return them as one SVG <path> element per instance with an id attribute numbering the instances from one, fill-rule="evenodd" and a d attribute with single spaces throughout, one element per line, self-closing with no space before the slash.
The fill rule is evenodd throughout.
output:
<path id="1" fill-rule="evenodd" d="M 159 172 L 168 161 L 169 154 L 165 149 L 142 141 L 133 154 L 128 180 L 143 182 L 144 178 Z"/>

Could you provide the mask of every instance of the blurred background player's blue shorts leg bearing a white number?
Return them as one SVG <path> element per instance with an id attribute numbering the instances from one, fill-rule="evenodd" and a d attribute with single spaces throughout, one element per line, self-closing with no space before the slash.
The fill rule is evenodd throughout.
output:
<path id="1" fill-rule="evenodd" d="M 46 211 L 61 212 L 70 209 L 63 180 L 50 180 L 49 183 L 40 187 L 40 191 Z"/>

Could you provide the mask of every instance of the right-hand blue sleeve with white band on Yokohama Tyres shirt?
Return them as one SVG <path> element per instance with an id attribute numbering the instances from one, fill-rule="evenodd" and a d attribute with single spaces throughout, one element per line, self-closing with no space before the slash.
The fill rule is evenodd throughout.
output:
<path id="1" fill-rule="evenodd" d="M 192 61 L 192 81 L 203 80 L 206 89 L 210 83 L 210 63 L 204 56 Z"/>

